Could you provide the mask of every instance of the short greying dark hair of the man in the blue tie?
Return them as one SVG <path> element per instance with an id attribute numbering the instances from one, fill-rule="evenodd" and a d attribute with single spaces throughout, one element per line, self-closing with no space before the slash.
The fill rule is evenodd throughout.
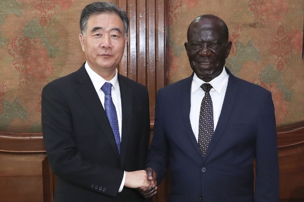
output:
<path id="1" fill-rule="evenodd" d="M 80 15 L 80 30 L 83 35 L 86 34 L 88 27 L 88 20 L 92 15 L 98 14 L 117 14 L 123 21 L 125 36 L 128 36 L 129 18 L 127 13 L 123 9 L 119 9 L 115 4 L 109 2 L 94 2 L 87 5 Z"/>

